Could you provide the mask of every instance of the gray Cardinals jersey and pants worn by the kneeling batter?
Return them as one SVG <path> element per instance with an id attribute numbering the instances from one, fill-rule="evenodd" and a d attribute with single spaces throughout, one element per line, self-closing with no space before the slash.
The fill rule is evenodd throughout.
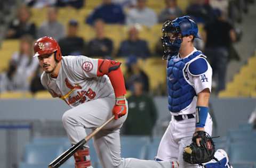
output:
<path id="1" fill-rule="evenodd" d="M 85 128 L 95 129 L 113 114 L 114 89 L 107 75 L 97 77 L 98 60 L 86 56 L 65 56 L 57 78 L 45 72 L 41 82 L 53 97 L 72 107 L 62 116 L 71 144 L 86 137 Z M 128 108 L 127 108 L 128 110 Z M 170 168 L 177 163 L 121 158 L 119 132 L 127 114 L 110 122 L 93 137 L 93 145 L 103 168 Z M 85 146 L 87 147 L 87 146 Z"/>

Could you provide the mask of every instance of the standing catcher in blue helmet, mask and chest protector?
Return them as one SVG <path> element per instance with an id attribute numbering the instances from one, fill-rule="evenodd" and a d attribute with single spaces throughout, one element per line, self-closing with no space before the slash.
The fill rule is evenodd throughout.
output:
<path id="1" fill-rule="evenodd" d="M 182 168 L 199 167 L 198 164 L 183 161 L 182 156 L 196 131 L 212 133 L 212 120 L 208 113 L 212 68 L 206 56 L 193 45 L 194 38 L 199 38 L 198 28 L 189 16 L 166 21 L 162 32 L 163 60 L 167 60 L 168 108 L 172 120 L 155 159 L 178 161 Z M 199 140 L 196 139 L 198 146 Z"/>

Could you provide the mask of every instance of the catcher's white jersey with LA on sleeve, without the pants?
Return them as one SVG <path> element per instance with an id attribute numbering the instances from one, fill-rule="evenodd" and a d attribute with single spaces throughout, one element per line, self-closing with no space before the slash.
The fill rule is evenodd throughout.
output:
<path id="1" fill-rule="evenodd" d="M 195 48 L 194 51 L 189 53 L 186 57 L 195 53 L 196 51 L 197 51 L 197 49 Z M 199 57 L 202 58 L 201 55 L 198 55 L 193 60 L 189 61 L 188 64 L 190 62 L 195 61 Z M 177 58 L 181 59 L 179 57 L 179 55 L 177 56 Z M 191 75 L 191 73 L 189 73 L 188 66 L 185 66 L 185 69 L 183 70 L 185 80 L 189 83 L 189 85 L 193 86 L 193 88 L 196 91 L 196 94 L 199 94 L 201 91 L 203 91 L 206 88 L 209 88 L 209 90 L 211 91 L 211 88 L 212 88 L 211 87 L 212 86 L 212 68 L 211 68 L 211 65 L 208 62 L 207 62 L 207 65 L 208 65 L 207 71 L 204 72 L 201 75 L 198 75 L 198 76 Z M 185 109 L 181 110 L 179 113 L 172 113 L 171 112 L 171 114 L 172 115 L 193 114 L 193 113 L 196 112 L 196 102 L 197 102 L 197 97 L 195 96 L 193 98 L 193 101 L 190 103 L 189 106 L 187 106 Z"/>

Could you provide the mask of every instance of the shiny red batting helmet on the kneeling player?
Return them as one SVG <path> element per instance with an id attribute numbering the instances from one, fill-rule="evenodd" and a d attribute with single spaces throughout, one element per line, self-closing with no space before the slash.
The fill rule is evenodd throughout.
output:
<path id="1" fill-rule="evenodd" d="M 34 52 L 34 57 L 52 53 L 54 53 L 57 61 L 60 61 L 62 57 L 59 44 L 55 39 L 48 36 L 44 36 L 36 40 L 34 44 Z"/>

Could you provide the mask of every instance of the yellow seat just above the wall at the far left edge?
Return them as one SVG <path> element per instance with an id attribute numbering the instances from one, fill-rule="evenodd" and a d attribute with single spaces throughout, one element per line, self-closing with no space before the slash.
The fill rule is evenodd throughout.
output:
<path id="1" fill-rule="evenodd" d="M 32 98 L 32 94 L 28 91 L 6 91 L 0 94 L 1 99 L 21 99 Z"/>

